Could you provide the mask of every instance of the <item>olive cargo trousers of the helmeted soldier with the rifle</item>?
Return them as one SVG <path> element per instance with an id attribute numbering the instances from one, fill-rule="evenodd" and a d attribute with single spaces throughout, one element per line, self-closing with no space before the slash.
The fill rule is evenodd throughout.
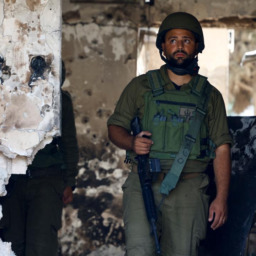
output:
<path id="1" fill-rule="evenodd" d="M 160 205 L 157 233 L 162 256 L 196 256 L 199 241 L 206 236 L 209 196 L 206 174 L 178 181 L 176 188 L 163 197 L 161 181 L 153 182 L 156 206 Z M 130 172 L 123 189 L 125 256 L 155 256 L 154 236 L 146 217 L 137 173 Z"/>

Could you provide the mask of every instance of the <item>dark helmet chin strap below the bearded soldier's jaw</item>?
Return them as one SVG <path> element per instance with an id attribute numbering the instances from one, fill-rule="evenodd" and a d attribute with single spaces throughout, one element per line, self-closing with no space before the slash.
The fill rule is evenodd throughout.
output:
<path id="1" fill-rule="evenodd" d="M 161 59 L 166 63 L 167 65 L 167 68 L 170 69 L 174 74 L 176 75 L 187 75 L 187 74 L 190 74 L 190 75 L 196 75 L 198 74 L 198 71 L 199 71 L 199 66 L 197 64 L 198 62 L 198 58 L 196 56 L 196 58 L 193 59 L 193 61 L 190 63 L 189 66 L 187 66 L 186 68 L 175 68 L 174 66 L 171 66 L 167 59 L 162 55 L 162 49 L 159 49 L 159 53 L 160 53 L 160 56 L 161 56 Z"/>

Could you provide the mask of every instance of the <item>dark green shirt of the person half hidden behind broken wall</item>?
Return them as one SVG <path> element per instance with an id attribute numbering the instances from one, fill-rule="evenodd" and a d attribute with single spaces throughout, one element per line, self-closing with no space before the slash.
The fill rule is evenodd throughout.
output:
<path id="1" fill-rule="evenodd" d="M 67 91 L 62 91 L 61 125 L 61 137 L 54 138 L 50 144 L 39 150 L 28 168 L 47 168 L 54 165 L 62 165 L 65 167 L 63 175 L 65 186 L 73 187 L 75 186 L 75 177 L 78 174 L 79 153 L 73 104 Z"/>

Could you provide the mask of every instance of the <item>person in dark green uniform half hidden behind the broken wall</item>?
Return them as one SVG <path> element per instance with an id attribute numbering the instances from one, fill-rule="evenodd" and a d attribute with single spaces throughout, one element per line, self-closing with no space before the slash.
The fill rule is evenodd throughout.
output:
<path id="1" fill-rule="evenodd" d="M 62 64 L 62 84 L 65 66 Z M 1 199 L 4 240 L 17 256 L 57 256 L 57 232 L 63 203 L 73 200 L 78 174 L 78 144 L 71 96 L 62 94 L 62 135 L 39 150 L 26 175 L 11 175 L 15 184 Z"/>

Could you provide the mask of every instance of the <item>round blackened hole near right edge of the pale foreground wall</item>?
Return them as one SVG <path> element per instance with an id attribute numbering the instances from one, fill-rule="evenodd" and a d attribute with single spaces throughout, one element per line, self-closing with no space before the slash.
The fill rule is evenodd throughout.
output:
<path id="1" fill-rule="evenodd" d="M 28 85 L 32 88 L 31 83 L 38 80 L 38 78 L 46 79 L 44 76 L 44 71 L 47 67 L 47 64 L 42 56 L 36 56 L 32 58 L 30 67 L 33 70 L 33 74 L 30 77 Z"/>

